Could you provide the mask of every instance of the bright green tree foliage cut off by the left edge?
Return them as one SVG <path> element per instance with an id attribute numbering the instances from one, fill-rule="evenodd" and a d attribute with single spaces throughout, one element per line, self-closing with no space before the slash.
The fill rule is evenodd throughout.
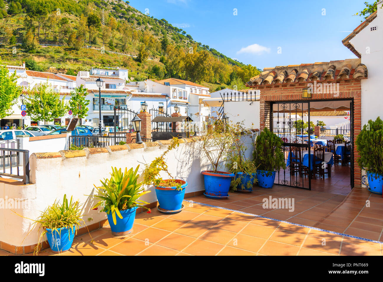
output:
<path id="1" fill-rule="evenodd" d="M 16 71 L 9 75 L 8 69 L 0 66 L 0 119 L 13 113 L 12 106 L 16 104 L 21 90 L 17 85 Z"/>

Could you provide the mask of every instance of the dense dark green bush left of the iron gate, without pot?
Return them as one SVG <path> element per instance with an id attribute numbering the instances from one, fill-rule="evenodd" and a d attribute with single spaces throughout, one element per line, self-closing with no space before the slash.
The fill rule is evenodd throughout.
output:
<path id="1" fill-rule="evenodd" d="M 282 140 L 267 127 L 255 141 L 253 157 L 255 166 L 259 170 L 274 172 L 280 168 L 286 168 Z"/>

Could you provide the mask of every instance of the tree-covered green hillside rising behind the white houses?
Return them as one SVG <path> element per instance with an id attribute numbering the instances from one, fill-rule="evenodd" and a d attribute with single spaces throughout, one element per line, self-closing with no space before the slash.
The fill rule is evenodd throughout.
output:
<path id="1" fill-rule="evenodd" d="M 120 0 L 0 0 L 0 57 L 2 64 L 25 61 L 31 70 L 71 75 L 121 66 L 131 80 L 173 77 L 211 91 L 260 71 Z"/>

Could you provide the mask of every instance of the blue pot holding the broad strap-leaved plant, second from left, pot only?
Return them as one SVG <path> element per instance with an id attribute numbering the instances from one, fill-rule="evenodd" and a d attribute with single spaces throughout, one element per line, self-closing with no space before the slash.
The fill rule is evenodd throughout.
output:
<path id="1" fill-rule="evenodd" d="M 132 232 L 131 229 L 133 228 L 134 219 L 136 218 L 137 208 L 138 207 L 135 206 L 134 208 L 119 211 L 122 218 L 119 218 L 116 214 L 116 224 L 113 222 L 112 212 L 110 211 L 110 213 L 107 214 L 112 235 L 123 236 Z"/>

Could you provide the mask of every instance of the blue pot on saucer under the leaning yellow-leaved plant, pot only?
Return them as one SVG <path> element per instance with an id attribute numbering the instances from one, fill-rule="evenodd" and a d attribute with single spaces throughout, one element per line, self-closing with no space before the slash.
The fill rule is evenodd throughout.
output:
<path id="1" fill-rule="evenodd" d="M 185 188 L 188 186 L 188 183 L 180 179 L 175 179 L 175 181 L 182 184 L 181 190 L 176 190 L 175 186 L 154 186 L 160 209 L 166 211 L 178 211 L 182 208 L 182 201 L 185 197 Z"/>

